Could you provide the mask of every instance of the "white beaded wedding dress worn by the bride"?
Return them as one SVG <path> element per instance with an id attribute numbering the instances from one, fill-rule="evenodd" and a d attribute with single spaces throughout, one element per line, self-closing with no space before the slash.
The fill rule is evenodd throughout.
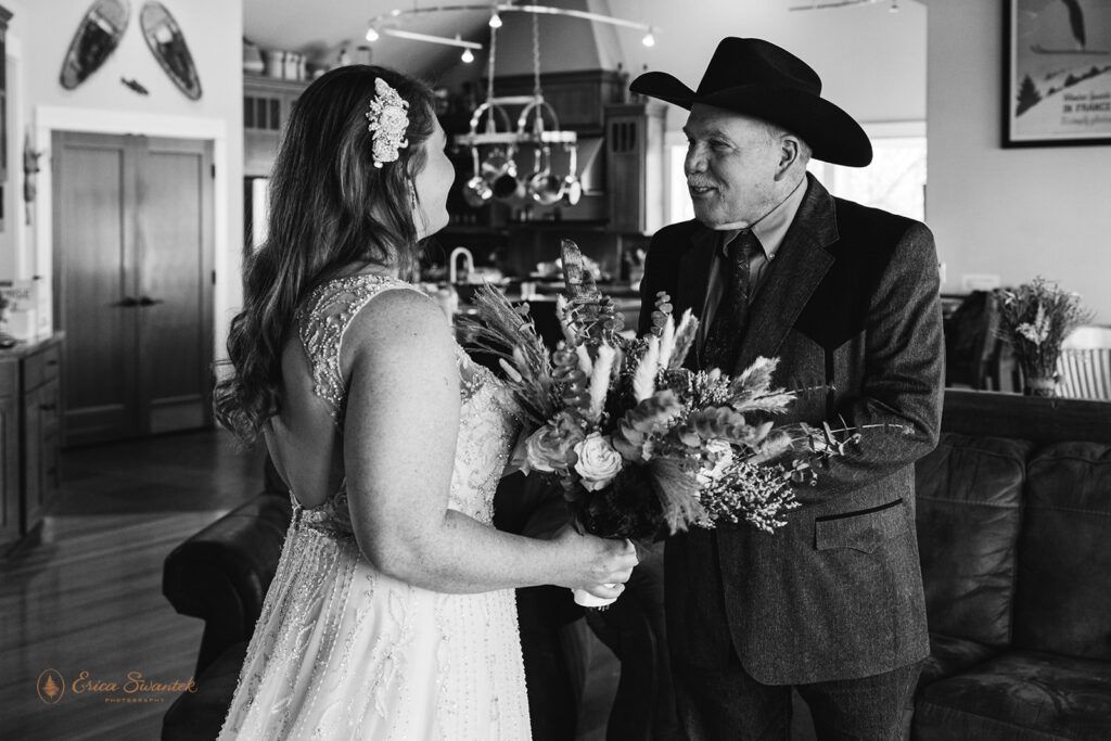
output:
<path id="1" fill-rule="evenodd" d="M 299 313 L 316 392 L 337 424 L 343 333 L 390 289 L 414 290 L 352 276 L 317 289 Z M 462 407 L 449 507 L 489 524 L 516 422 L 497 379 L 462 349 L 457 363 Z M 293 521 L 220 738 L 530 738 L 513 590 L 442 594 L 391 579 L 359 550 L 342 489 L 313 509 L 292 493 Z"/>

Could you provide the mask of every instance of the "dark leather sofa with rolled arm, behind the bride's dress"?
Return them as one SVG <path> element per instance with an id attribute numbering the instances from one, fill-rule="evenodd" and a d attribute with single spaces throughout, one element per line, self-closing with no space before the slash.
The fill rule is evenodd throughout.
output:
<path id="1" fill-rule="evenodd" d="M 559 492 L 520 474 L 494 497 L 496 524 L 543 535 L 567 520 Z M 273 579 L 292 509 L 267 462 L 262 491 L 179 544 L 163 564 L 162 592 L 181 614 L 204 621 L 197 691 L 182 693 L 162 719 L 163 741 L 214 739 L 231 703 L 247 644 Z M 518 617 L 532 735 L 570 741 L 590 663 L 589 628 L 569 590 L 518 590 Z"/>

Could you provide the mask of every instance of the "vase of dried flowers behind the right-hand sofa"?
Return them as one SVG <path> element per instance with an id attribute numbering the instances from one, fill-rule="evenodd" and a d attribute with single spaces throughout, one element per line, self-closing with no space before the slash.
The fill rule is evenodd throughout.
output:
<path id="1" fill-rule="evenodd" d="M 1061 343 L 1078 324 L 1091 320 L 1091 312 L 1082 308 L 1080 294 L 1041 277 L 1013 291 L 1001 290 L 999 311 L 1000 333 L 1022 371 L 1023 393 L 1052 397 Z"/>

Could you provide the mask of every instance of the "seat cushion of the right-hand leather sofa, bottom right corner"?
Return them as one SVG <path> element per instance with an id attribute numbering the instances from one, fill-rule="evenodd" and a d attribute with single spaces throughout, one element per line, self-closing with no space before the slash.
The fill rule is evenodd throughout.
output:
<path id="1" fill-rule="evenodd" d="M 1111 739 L 1111 662 L 1012 651 L 930 684 L 914 738 Z"/>

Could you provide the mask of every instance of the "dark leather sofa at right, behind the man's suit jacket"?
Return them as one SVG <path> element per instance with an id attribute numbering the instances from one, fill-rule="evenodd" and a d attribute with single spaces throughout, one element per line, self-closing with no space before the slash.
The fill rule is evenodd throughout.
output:
<path id="1" fill-rule="evenodd" d="M 1111 404 L 947 394 L 912 738 L 1111 739 Z"/>

